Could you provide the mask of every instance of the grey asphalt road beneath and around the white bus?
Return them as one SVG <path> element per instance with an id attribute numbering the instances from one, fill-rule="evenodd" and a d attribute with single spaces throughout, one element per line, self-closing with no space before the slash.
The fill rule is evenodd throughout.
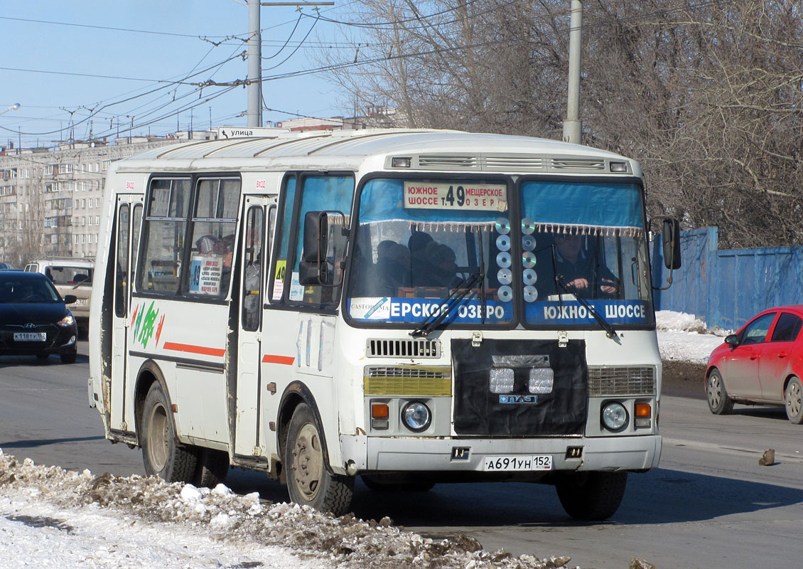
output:
<path id="1" fill-rule="evenodd" d="M 0 358 L 0 448 L 66 469 L 143 474 L 141 453 L 103 437 L 87 403 L 86 342 L 78 362 Z M 659 569 L 800 567 L 803 426 L 781 408 L 736 406 L 711 415 L 703 399 L 666 396 L 661 466 L 631 474 L 617 514 L 604 523 L 568 518 L 549 486 L 438 485 L 426 493 L 373 493 L 357 484 L 354 513 L 393 518 L 431 537 L 470 534 L 490 551 L 569 555 L 570 567 L 625 569 L 631 557 Z M 776 464 L 758 465 L 767 448 Z M 233 489 L 287 500 L 261 473 L 234 469 Z"/>

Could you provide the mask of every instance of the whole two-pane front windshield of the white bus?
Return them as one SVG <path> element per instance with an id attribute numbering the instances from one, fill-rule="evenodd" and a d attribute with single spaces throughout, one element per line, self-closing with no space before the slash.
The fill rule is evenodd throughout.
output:
<path id="1" fill-rule="evenodd" d="M 354 321 L 418 325 L 467 282 L 447 325 L 593 329 L 589 307 L 611 324 L 653 321 L 636 183 L 377 178 L 358 215 Z"/>

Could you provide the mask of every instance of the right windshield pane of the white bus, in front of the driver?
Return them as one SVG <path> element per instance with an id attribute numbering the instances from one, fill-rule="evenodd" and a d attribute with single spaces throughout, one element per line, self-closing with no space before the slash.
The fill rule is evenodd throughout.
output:
<path id="1" fill-rule="evenodd" d="M 525 181 L 520 199 L 526 323 L 594 325 L 589 305 L 612 324 L 653 320 L 637 184 Z"/>

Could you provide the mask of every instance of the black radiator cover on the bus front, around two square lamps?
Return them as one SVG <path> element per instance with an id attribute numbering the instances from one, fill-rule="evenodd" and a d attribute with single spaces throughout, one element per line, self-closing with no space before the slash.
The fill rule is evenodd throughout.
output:
<path id="1" fill-rule="evenodd" d="M 581 435 L 585 431 L 588 370 L 585 341 L 558 347 L 548 340 L 451 341 L 454 365 L 454 431 L 459 435 L 548 436 Z M 552 393 L 528 391 L 530 369 L 548 366 L 554 373 Z M 491 393 L 492 367 L 514 371 L 511 394 Z M 507 400 L 513 403 L 500 403 Z"/>

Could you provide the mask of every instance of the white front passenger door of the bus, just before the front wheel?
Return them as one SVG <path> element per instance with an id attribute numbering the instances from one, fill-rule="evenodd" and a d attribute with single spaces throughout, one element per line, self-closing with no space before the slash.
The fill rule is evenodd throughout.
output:
<path id="1" fill-rule="evenodd" d="M 240 306 L 237 362 L 237 397 L 234 422 L 234 454 L 263 456 L 259 440 L 259 407 L 262 395 L 260 358 L 262 357 L 262 316 L 265 294 L 265 267 L 270 252 L 270 229 L 275 206 L 263 196 L 246 196 L 240 252 Z M 271 223 L 266 223 L 270 219 Z"/>

